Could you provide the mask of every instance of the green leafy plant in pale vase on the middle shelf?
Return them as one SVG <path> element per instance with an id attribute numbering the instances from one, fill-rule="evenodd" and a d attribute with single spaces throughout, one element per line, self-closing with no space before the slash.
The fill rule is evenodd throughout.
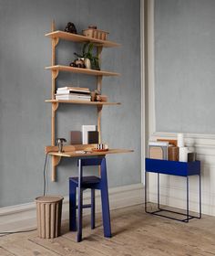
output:
<path id="1" fill-rule="evenodd" d="M 84 44 L 82 48 L 82 54 L 77 54 L 76 52 L 74 52 L 74 54 L 78 58 L 84 59 L 85 66 L 87 69 L 100 70 L 98 58 L 96 56 L 93 56 L 93 48 L 94 48 L 94 44 L 88 42 Z"/>

